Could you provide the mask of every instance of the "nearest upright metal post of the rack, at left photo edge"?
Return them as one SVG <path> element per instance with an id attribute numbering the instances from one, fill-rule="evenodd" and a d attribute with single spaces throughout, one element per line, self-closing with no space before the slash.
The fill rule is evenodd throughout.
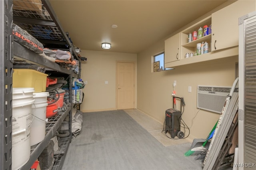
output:
<path id="1" fill-rule="evenodd" d="M 0 1 L 0 169 L 12 167 L 12 2 Z"/>

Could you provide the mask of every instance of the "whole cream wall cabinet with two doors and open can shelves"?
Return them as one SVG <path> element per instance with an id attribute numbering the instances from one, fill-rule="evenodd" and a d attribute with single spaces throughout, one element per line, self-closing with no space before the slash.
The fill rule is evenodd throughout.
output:
<path id="1" fill-rule="evenodd" d="M 256 10 L 256 0 L 238 0 L 212 15 L 189 26 L 165 41 L 165 67 L 199 63 L 238 56 L 238 18 Z M 188 34 L 204 25 L 212 24 L 212 33 L 188 42 Z M 207 42 L 209 53 L 185 58 L 186 53 L 195 53 L 196 44 Z M 175 62 L 173 62 L 175 61 Z"/>

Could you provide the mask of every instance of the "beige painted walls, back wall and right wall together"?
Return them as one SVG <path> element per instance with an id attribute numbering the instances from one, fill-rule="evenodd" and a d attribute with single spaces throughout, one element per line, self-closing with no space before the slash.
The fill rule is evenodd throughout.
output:
<path id="1" fill-rule="evenodd" d="M 230 3 L 232 2 L 228 1 L 170 36 Z M 81 55 L 87 57 L 88 61 L 82 61 L 81 78 L 88 81 L 88 84 L 83 90 L 85 97 L 81 110 L 88 112 L 116 109 L 116 61 L 135 61 L 137 68 L 135 107 L 163 124 L 166 109 L 172 108 L 172 83 L 176 80 L 176 96 L 184 97 L 186 103 L 182 119 L 190 127 L 188 139 L 192 141 L 193 138 L 206 138 L 220 115 L 202 109 L 198 111 L 196 108 L 197 86 L 232 86 L 238 56 L 152 73 L 152 55 L 164 51 L 164 40 L 170 36 L 138 54 L 82 50 Z M 109 84 L 104 84 L 105 81 Z M 192 87 L 191 93 L 188 92 L 188 86 Z M 184 132 L 183 128 L 181 130 Z M 187 134 L 188 129 L 185 135 Z"/>

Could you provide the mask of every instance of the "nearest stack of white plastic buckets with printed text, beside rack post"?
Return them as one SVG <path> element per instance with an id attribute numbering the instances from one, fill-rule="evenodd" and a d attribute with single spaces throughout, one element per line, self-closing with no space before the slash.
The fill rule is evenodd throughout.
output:
<path id="1" fill-rule="evenodd" d="M 12 170 L 30 158 L 30 126 L 34 88 L 12 88 Z"/>

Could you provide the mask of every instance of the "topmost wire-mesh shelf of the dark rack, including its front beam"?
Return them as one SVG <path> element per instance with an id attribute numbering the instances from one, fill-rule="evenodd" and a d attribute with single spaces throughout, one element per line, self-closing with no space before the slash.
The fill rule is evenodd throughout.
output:
<path id="1" fill-rule="evenodd" d="M 62 30 L 48 0 L 13 0 L 13 20 L 44 47 L 69 50 L 79 60 L 68 33 Z"/>

